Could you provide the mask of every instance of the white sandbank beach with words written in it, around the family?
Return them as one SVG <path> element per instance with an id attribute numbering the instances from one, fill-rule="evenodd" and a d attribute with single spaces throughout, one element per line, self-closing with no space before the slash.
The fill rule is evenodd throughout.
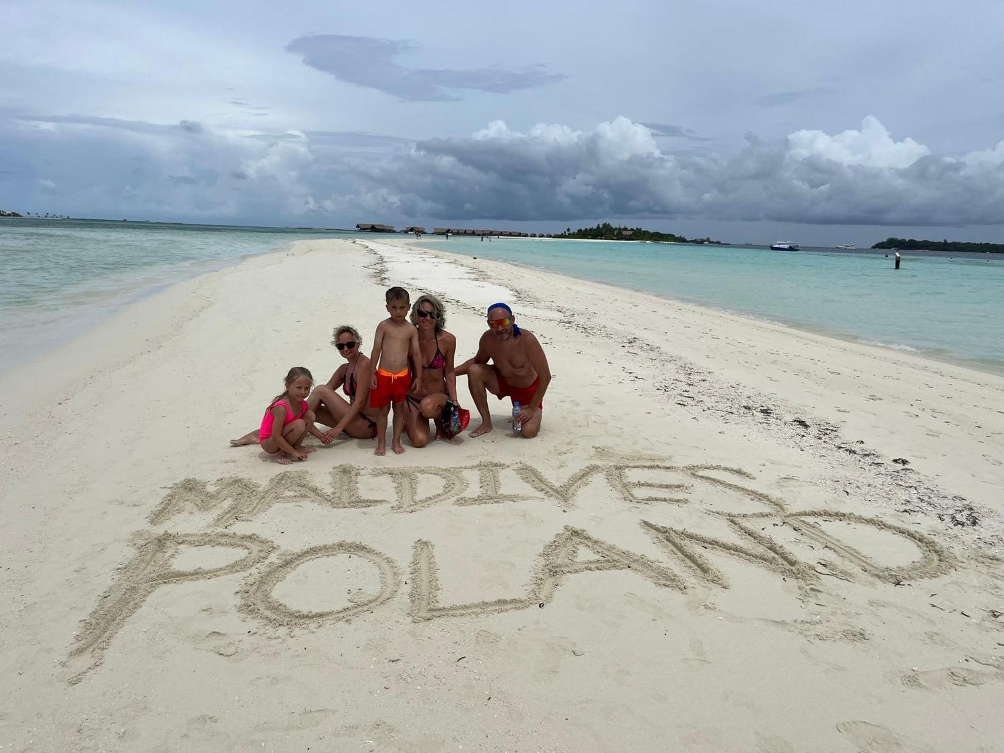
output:
<path id="1" fill-rule="evenodd" d="M 392 284 L 460 359 L 512 304 L 538 438 L 491 399 L 401 457 L 228 446 Z M 4 373 L 0 414 L 2 750 L 1001 750 L 1000 376 L 302 241 Z"/>

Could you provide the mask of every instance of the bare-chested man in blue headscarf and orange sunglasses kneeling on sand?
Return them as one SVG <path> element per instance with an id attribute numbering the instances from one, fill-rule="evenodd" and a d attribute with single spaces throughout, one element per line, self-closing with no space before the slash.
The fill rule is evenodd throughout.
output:
<path id="1" fill-rule="evenodd" d="M 477 355 L 456 368 L 457 375 L 467 374 L 471 398 L 481 414 L 481 426 L 471 436 L 480 437 L 493 429 L 487 395 L 491 393 L 499 400 L 511 398 L 519 403 L 519 415 L 513 422 L 524 437 L 536 437 L 544 393 L 551 382 L 547 356 L 533 332 L 516 325 L 516 317 L 505 303 L 488 307 L 488 326 L 478 342 Z"/>

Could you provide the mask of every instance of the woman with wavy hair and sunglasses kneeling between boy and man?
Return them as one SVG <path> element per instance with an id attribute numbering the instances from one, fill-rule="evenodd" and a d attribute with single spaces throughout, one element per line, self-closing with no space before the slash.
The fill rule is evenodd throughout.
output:
<path id="1" fill-rule="evenodd" d="M 440 437 L 442 428 L 438 421 L 447 401 L 457 404 L 457 376 L 453 372 L 457 338 L 443 328 L 446 311 L 435 295 L 419 296 L 412 306 L 411 320 L 419 329 L 422 391 L 407 396 L 409 411 L 405 431 L 413 446 L 425 447 L 433 437 L 429 421 L 437 423 L 436 437 Z M 318 417 L 317 420 L 321 419 Z"/>

